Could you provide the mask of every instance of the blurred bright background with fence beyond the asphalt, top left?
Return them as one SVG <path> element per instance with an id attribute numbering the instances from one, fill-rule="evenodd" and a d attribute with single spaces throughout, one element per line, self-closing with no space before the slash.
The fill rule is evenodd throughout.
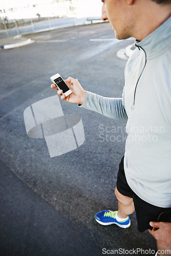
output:
<path id="1" fill-rule="evenodd" d="M 0 38 L 99 22 L 100 0 L 1 0 Z"/>

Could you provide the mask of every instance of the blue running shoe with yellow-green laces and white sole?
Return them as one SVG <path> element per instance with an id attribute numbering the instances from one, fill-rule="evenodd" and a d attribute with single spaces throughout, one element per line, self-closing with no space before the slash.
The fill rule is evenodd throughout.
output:
<path id="1" fill-rule="evenodd" d="M 117 212 L 117 210 L 116 211 L 111 211 L 111 210 L 99 211 L 95 215 L 95 220 L 101 225 L 116 224 L 122 228 L 130 227 L 130 225 L 131 225 L 130 218 L 127 217 L 127 219 L 125 221 L 117 221 L 115 218 L 116 212 Z"/>

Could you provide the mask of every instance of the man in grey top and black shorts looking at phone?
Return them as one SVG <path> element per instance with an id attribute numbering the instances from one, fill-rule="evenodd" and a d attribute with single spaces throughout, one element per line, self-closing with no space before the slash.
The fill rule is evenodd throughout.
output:
<path id="1" fill-rule="evenodd" d="M 136 38 L 137 48 L 125 68 L 122 98 L 86 92 L 69 77 L 72 94 L 61 99 L 110 118 L 127 119 L 125 155 L 115 189 L 118 211 L 100 211 L 95 219 L 102 225 L 127 228 L 129 215 L 136 210 L 139 231 L 148 229 L 157 240 L 156 255 L 170 255 L 171 1 L 102 2 L 102 19 L 109 20 L 116 38 Z"/>

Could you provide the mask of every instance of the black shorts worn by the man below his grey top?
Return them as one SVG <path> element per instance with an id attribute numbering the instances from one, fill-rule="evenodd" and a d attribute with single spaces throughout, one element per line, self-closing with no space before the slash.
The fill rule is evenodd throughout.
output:
<path id="1" fill-rule="evenodd" d="M 146 229 L 152 230 L 153 228 L 149 225 L 149 222 L 151 221 L 163 221 L 171 223 L 171 207 L 162 208 L 143 201 L 134 193 L 129 184 L 127 184 L 124 173 L 123 159 L 124 157 L 122 157 L 119 164 L 116 186 L 120 194 L 126 197 L 133 198 L 137 216 L 138 230 L 140 232 L 143 232 Z"/>

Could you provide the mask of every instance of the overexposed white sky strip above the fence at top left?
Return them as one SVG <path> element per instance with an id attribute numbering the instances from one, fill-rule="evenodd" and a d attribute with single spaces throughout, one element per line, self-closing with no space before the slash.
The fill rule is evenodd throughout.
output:
<path id="1" fill-rule="evenodd" d="M 44 5 L 42 5 L 43 3 Z M 70 4 L 74 8 L 73 13 L 70 11 Z M 33 5 L 36 6 L 33 8 Z M 55 15 L 101 16 L 101 5 L 100 0 L 72 0 L 72 3 L 69 1 L 57 3 L 53 0 L 0 0 L 0 10 L 2 10 L 0 16 L 8 17 L 8 19 L 35 18 L 37 17 L 36 13 L 39 13 L 41 17 Z M 11 8 L 13 11 L 10 11 Z M 3 11 L 4 9 L 6 12 Z"/>

